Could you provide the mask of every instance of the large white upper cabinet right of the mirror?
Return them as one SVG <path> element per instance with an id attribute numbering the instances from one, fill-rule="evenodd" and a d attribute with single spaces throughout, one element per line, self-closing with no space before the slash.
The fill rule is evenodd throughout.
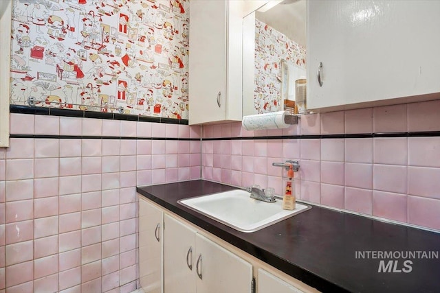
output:
<path id="1" fill-rule="evenodd" d="M 435 98 L 439 15 L 440 1 L 307 1 L 307 108 Z"/>

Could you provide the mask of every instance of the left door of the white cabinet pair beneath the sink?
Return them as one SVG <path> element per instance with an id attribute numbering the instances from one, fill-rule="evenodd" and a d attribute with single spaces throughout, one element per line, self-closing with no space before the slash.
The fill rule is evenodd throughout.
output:
<path id="1" fill-rule="evenodd" d="M 195 231 L 164 215 L 164 291 L 194 293 Z"/>

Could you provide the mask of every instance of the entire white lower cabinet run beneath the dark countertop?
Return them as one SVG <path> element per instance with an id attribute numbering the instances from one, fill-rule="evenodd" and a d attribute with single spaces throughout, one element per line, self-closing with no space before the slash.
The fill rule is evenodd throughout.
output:
<path id="1" fill-rule="evenodd" d="M 144 196 L 138 198 L 144 292 L 318 292 Z"/>

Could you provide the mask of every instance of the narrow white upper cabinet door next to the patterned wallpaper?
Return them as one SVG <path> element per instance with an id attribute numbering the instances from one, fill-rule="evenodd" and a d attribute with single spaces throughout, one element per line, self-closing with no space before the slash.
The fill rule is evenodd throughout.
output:
<path id="1" fill-rule="evenodd" d="M 224 0 L 190 1 L 190 124 L 225 119 L 226 5 Z"/>

